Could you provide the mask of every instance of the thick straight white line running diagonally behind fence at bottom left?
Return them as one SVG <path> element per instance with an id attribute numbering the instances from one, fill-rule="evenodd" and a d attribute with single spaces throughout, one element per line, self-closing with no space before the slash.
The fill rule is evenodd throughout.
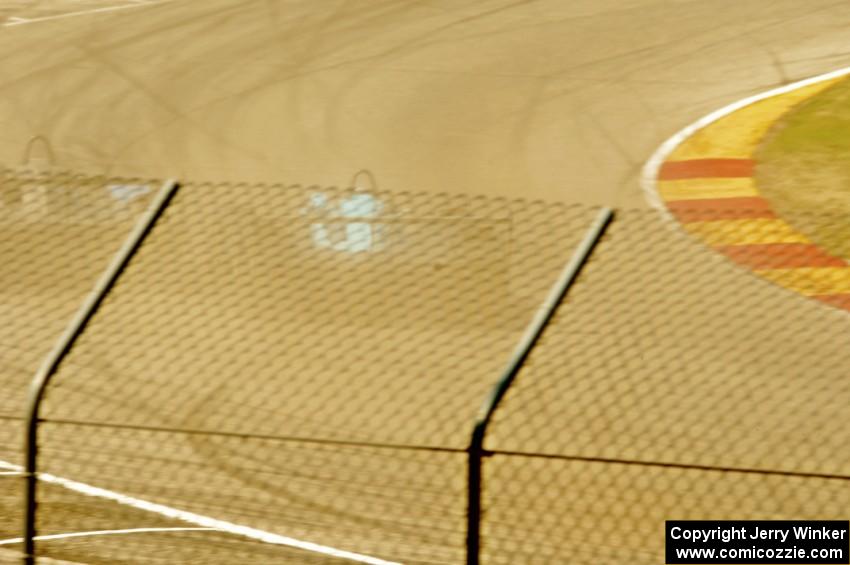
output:
<path id="1" fill-rule="evenodd" d="M 23 468 L 20 465 L 14 465 L 7 461 L 0 461 L 0 469 L 6 469 L 8 471 L 17 472 L 23 471 Z M 354 561 L 357 563 L 367 563 L 369 565 L 401 565 L 396 561 L 386 561 L 383 559 L 378 559 L 377 557 L 371 557 L 369 555 L 362 555 L 360 553 L 345 551 L 342 549 L 337 549 L 335 547 L 329 547 L 326 545 L 320 545 L 309 541 L 290 538 L 279 534 L 273 534 L 271 532 L 266 532 L 263 530 L 258 530 L 256 528 L 250 528 L 248 526 L 234 524 L 233 522 L 227 522 L 225 520 L 210 518 L 209 516 L 202 516 L 200 514 L 195 514 L 194 512 L 178 510 L 177 508 L 171 508 L 170 506 L 165 506 L 163 504 L 148 502 L 146 500 L 141 500 L 139 498 L 121 494 L 111 490 L 94 487 L 70 479 L 64 479 L 55 475 L 50 475 L 48 473 L 39 473 L 38 479 L 42 482 L 59 485 L 65 487 L 68 490 L 78 492 L 80 494 L 85 494 L 87 496 L 111 500 L 113 502 L 117 502 L 118 504 L 130 506 L 137 510 L 151 512 L 159 516 L 165 516 L 166 518 L 180 520 L 182 522 L 193 524 L 195 526 L 200 526 L 202 528 L 220 530 L 228 534 L 242 536 L 257 541 L 262 541 L 265 543 L 270 543 L 274 545 L 285 545 L 287 547 L 293 547 L 296 549 L 302 549 L 304 551 L 319 553 L 322 555 L 327 555 L 329 557 L 347 559 L 349 561 Z"/>

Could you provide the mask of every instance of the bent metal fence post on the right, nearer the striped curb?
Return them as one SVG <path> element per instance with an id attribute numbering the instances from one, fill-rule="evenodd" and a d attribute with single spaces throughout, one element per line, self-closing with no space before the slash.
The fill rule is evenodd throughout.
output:
<path id="1" fill-rule="evenodd" d="M 596 248 L 608 225 L 614 217 L 611 208 L 602 208 L 587 230 L 584 239 L 576 248 L 569 262 L 564 266 L 558 280 L 549 291 L 549 295 L 536 315 L 529 323 L 519 343 L 514 349 L 502 377 L 491 389 L 478 411 L 475 425 L 467 448 L 469 467 L 467 469 L 467 524 L 466 524 L 466 563 L 478 565 L 481 553 L 481 467 L 484 457 L 489 455 L 484 449 L 487 426 L 495 413 L 499 402 L 505 396 L 517 374 L 522 369 L 546 326 L 555 315 L 569 289 L 578 278 L 588 258 Z"/>

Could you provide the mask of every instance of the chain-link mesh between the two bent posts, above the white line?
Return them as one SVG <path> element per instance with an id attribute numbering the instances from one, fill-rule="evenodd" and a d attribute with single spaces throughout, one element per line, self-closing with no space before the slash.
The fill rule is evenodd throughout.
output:
<path id="1" fill-rule="evenodd" d="M 184 186 L 53 380 L 41 468 L 325 548 L 460 562 L 471 422 L 593 214 Z M 63 527 L 112 519 L 90 506 Z M 198 559 L 231 562 L 219 549 Z"/>

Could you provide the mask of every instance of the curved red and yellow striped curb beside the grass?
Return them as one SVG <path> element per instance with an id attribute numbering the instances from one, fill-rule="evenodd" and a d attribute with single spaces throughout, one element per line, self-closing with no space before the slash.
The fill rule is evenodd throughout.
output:
<path id="1" fill-rule="evenodd" d="M 753 178 L 770 126 L 842 78 L 760 98 L 693 128 L 674 141 L 654 181 L 669 213 L 706 245 L 771 282 L 850 310 L 850 264 L 777 216 Z"/>

